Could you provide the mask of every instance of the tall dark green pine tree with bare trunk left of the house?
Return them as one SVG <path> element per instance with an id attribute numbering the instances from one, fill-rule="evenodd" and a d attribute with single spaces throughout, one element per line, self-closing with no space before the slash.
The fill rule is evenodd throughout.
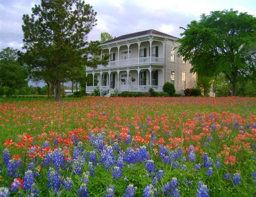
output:
<path id="1" fill-rule="evenodd" d="M 33 7 L 30 17 L 23 15 L 23 48 L 36 60 L 27 63 L 51 74 L 56 101 L 60 100 L 61 82 L 87 62 L 86 38 L 96 24 L 96 14 L 84 1 L 42 0 L 41 5 Z"/>

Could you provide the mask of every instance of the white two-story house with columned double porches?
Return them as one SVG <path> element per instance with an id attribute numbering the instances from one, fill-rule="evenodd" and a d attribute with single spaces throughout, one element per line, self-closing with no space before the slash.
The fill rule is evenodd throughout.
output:
<path id="1" fill-rule="evenodd" d="M 147 92 L 153 87 L 163 92 L 164 83 L 171 82 L 176 93 L 195 86 L 196 74 L 190 73 L 191 64 L 182 61 L 177 52 L 179 38 L 154 29 L 116 37 L 101 43 L 102 55 L 109 54 L 107 65 L 86 68 L 86 76 L 92 75 L 92 86 L 86 93 L 99 88 L 101 92 Z M 97 78 L 98 84 L 94 84 Z"/>

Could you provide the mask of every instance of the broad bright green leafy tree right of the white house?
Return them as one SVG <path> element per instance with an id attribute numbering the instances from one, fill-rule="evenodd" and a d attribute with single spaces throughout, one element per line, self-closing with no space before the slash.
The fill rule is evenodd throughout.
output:
<path id="1" fill-rule="evenodd" d="M 256 18 L 247 13 L 224 10 L 203 14 L 198 22 L 182 28 L 179 55 L 191 62 L 191 72 L 205 76 L 223 73 L 231 83 L 232 95 L 236 95 L 241 71 L 252 61 L 246 52 L 255 42 L 255 27 Z"/>

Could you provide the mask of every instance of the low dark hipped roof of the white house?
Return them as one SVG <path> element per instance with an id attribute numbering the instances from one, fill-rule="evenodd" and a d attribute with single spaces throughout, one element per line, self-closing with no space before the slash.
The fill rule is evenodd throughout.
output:
<path id="1" fill-rule="evenodd" d="M 112 42 L 116 42 L 118 40 L 123 40 L 123 39 L 143 36 L 143 35 L 159 35 L 159 36 L 169 37 L 171 39 L 179 39 L 179 38 L 171 36 L 169 34 L 165 34 L 165 33 L 161 32 L 161 31 L 157 31 L 157 30 L 154 30 L 154 29 L 149 29 L 149 30 L 145 30 L 145 31 L 135 32 L 135 33 L 132 33 L 132 34 L 125 34 L 125 35 L 116 37 L 114 39 L 108 40 L 107 42 L 104 42 L 104 43 L 101 43 L 101 44 L 112 43 Z"/>

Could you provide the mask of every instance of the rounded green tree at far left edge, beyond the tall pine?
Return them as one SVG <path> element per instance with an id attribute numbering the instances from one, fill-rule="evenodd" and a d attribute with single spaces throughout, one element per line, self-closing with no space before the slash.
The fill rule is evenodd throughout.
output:
<path id="1" fill-rule="evenodd" d="M 27 85 L 27 69 L 19 61 L 19 50 L 7 47 L 0 52 L 0 85 L 21 88 Z"/>

